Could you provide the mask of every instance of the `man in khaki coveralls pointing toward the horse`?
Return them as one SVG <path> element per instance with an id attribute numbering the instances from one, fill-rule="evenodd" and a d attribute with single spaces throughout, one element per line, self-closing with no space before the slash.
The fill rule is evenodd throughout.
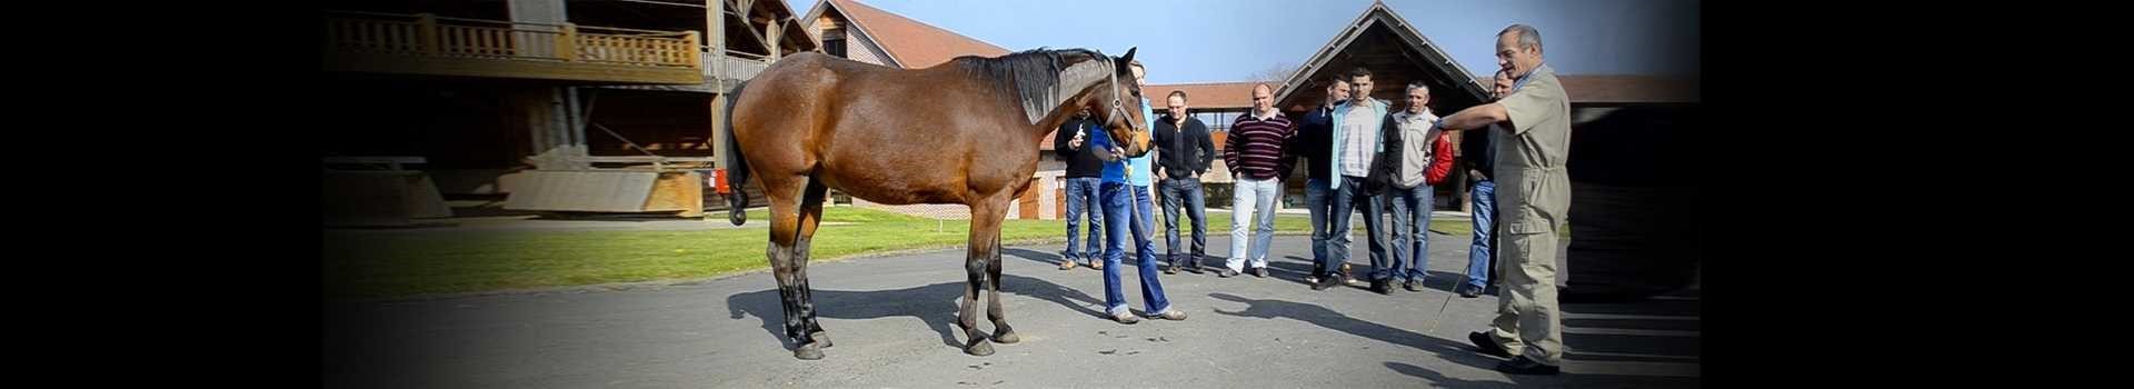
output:
<path id="1" fill-rule="evenodd" d="M 1504 124 L 1496 143 L 1498 269 L 1504 295 L 1490 331 L 1468 333 L 1509 374 L 1558 374 L 1564 359 L 1562 312 L 1556 308 L 1556 231 L 1571 209 L 1571 98 L 1556 71 L 1541 62 L 1541 32 L 1513 24 L 1496 34 L 1496 64 L 1515 75 L 1513 92 L 1438 122 L 1443 130 Z"/>

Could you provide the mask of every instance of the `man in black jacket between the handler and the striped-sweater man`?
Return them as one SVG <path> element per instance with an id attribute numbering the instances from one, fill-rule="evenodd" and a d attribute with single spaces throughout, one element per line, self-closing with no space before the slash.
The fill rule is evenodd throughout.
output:
<path id="1" fill-rule="evenodd" d="M 1201 256 L 1208 254 L 1206 194 L 1199 175 L 1214 162 L 1214 141 L 1208 139 L 1208 124 L 1187 115 L 1187 92 L 1174 90 L 1165 98 L 1169 113 L 1157 120 L 1157 186 L 1163 192 L 1163 242 L 1165 271 L 1178 274 L 1178 207 L 1184 205 L 1193 220 L 1193 250 L 1184 259 L 1184 269 L 1199 274 Z"/>

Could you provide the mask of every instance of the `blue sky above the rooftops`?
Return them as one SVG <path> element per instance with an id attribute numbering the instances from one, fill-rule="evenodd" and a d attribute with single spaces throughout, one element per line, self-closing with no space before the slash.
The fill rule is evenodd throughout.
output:
<path id="1" fill-rule="evenodd" d="M 785 0 L 807 15 L 817 0 Z M 1086 47 L 1150 83 L 1242 81 L 1297 66 L 1372 0 L 860 0 L 1009 51 Z M 1694 75 L 1694 0 L 1387 0 L 1460 66 L 1496 71 L 1496 32 L 1528 24 L 1562 75 Z"/>

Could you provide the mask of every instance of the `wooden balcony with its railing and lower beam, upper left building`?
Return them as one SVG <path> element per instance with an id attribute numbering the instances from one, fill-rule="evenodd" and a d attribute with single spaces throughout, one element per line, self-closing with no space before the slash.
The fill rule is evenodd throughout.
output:
<path id="1" fill-rule="evenodd" d="M 698 32 L 327 13 L 324 71 L 595 83 L 704 83 Z"/>

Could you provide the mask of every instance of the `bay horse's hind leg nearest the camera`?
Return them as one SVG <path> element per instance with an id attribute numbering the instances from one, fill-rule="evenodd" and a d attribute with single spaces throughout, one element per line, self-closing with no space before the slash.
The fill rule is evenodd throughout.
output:
<path id="1" fill-rule="evenodd" d="M 764 177 L 764 194 L 770 199 L 770 244 L 764 246 L 766 256 L 770 256 L 770 276 L 779 280 L 779 301 L 785 306 L 785 338 L 794 340 L 794 357 L 798 359 L 822 359 L 822 344 L 809 338 L 807 316 L 813 314 L 813 304 L 802 304 L 807 299 L 805 280 L 807 267 L 800 261 L 800 188 L 807 186 L 807 177 Z"/>

